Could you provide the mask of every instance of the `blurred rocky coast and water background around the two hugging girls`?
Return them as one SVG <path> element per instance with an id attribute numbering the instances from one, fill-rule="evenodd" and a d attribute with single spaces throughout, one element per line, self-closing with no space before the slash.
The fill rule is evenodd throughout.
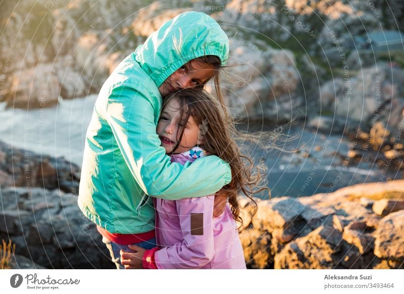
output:
<path id="1" fill-rule="evenodd" d="M 258 246 L 245 252 L 249 267 L 293 268 L 288 243 L 322 224 L 307 229 L 318 219 L 309 212 L 300 218 L 297 203 L 317 205 L 305 197 L 357 184 L 362 190 L 345 195 L 359 201 L 359 194 L 378 191 L 369 202 L 362 200 L 366 214 L 377 214 L 374 201 L 384 198 L 395 199 L 397 210 L 404 175 L 402 0 L 6 0 L 0 3 L 0 237 L 20 249 L 14 264 L 112 268 L 96 229 L 76 205 L 85 132 L 97 93 L 115 67 L 165 21 L 190 10 L 211 15 L 229 37 L 228 64 L 238 66 L 227 71 L 246 81 L 223 81 L 239 128 L 295 138 L 264 142 L 266 149 L 249 146 L 267 167 L 272 198 L 278 199 L 268 203 L 292 199 L 285 211 L 271 207 L 258 218 L 265 223 L 274 211 L 284 219 L 298 211 L 280 225 L 281 232 L 261 223 L 259 232 L 244 233 L 245 240 L 260 240 L 243 243 Z M 388 186 L 363 185 L 371 182 Z M 345 232 L 343 238 L 345 225 L 352 227 L 346 215 L 355 214 L 335 205 L 320 213 L 332 227 L 340 223 L 346 247 L 334 244 L 328 264 L 306 261 L 296 267 L 402 267 L 401 246 L 395 246 L 401 253 L 392 261 L 391 250 L 379 252 L 383 242 L 375 245 L 376 225 L 362 219 L 353 225 L 362 229 L 359 236 Z M 355 242 L 363 248 L 349 247 Z M 3 253 L 12 249 L 8 244 Z M 283 259 L 277 258 L 281 253 Z"/>

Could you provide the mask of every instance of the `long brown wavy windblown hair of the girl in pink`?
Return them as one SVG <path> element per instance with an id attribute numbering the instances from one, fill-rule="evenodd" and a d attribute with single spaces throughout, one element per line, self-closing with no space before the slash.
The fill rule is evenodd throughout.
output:
<path id="1" fill-rule="evenodd" d="M 200 148 L 209 155 L 216 155 L 229 163 L 232 179 L 228 185 L 222 188 L 222 191 L 225 191 L 229 196 L 233 218 L 242 226 L 237 195 L 243 193 L 254 202 L 255 211 L 257 211 L 257 203 L 252 196 L 264 191 L 268 192 L 269 197 L 271 195 L 270 189 L 264 185 L 262 167 L 259 168 L 248 155 L 242 154 L 236 142 L 237 140 L 257 142 L 257 134 L 237 131 L 225 106 L 201 87 L 181 89 L 168 94 L 164 97 L 163 108 L 173 99 L 180 105 L 180 121 L 186 122 L 192 116 L 199 126 L 199 139 L 203 141 L 199 145 Z M 183 128 L 180 128 L 177 145 L 173 149 L 174 153 L 179 146 L 183 133 Z"/>

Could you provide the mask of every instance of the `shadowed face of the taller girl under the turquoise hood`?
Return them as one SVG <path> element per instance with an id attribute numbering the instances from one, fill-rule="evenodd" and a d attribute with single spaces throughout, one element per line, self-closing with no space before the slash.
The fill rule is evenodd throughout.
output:
<path id="1" fill-rule="evenodd" d="M 193 88 L 204 84 L 215 73 L 215 67 L 210 63 L 191 60 L 177 69 L 159 87 L 162 96 L 177 90 L 178 88 Z"/>

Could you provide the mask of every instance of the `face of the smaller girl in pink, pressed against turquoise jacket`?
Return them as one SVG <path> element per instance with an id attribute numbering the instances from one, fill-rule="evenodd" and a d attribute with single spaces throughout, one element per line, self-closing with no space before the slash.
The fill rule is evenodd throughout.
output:
<path id="1" fill-rule="evenodd" d="M 173 150 L 178 143 L 182 129 L 184 129 L 182 139 L 178 147 Z M 201 143 L 201 140 L 198 139 L 199 126 L 193 117 L 189 116 L 187 122 L 180 121 L 180 105 L 176 99 L 171 99 L 165 105 L 157 124 L 157 134 L 167 154 L 182 153 Z"/>

